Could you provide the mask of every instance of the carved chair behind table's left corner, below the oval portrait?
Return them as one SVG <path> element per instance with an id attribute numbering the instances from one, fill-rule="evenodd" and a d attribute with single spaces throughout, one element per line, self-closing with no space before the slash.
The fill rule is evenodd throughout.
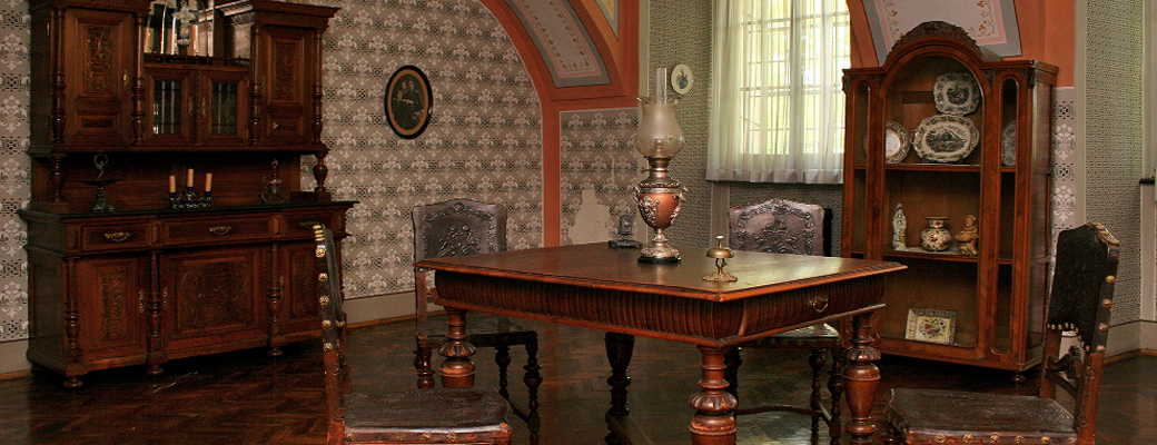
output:
<path id="1" fill-rule="evenodd" d="M 466 199 L 455 199 L 439 203 L 414 207 L 414 262 L 427 258 L 467 255 L 506 251 L 507 209 L 501 205 L 484 203 Z M 432 270 L 414 267 L 414 313 L 417 324 L 414 368 L 418 370 L 418 387 L 434 387 L 434 370 L 430 358 L 434 348 L 445 341 L 445 324 L 427 320 L 427 305 L 437 296 L 436 284 L 428 285 Z M 436 280 L 436 276 L 434 277 Z M 476 347 L 494 348 L 494 363 L 499 365 L 499 394 L 510 402 L 515 415 L 526 421 L 532 444 L 538 443 L 538 386 L 543 379 L 538 365 L 538 333 L 511 324 L 499 317 L 492 324 L 471 324 L 470 343 Z M 507 369 L 510 364 L 510 347 L 522 344 L 526 349 L 526 365 L 523 383 L 529 392 L 525 408 L 510 400 L 507 390 Z"/>

